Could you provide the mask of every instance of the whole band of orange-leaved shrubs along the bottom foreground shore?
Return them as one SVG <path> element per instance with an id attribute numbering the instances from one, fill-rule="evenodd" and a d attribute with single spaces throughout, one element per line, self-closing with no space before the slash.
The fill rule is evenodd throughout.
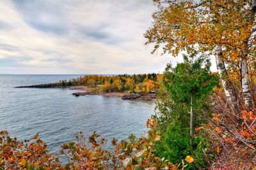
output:
<path id="1" fill-rule="evenodd" d="M 96 132 L 88 141 L 80 132 L 75 136 L 75 142 L 61 145 L 60 155 L 68 159 L 65 165 L 49 153 L 38 134 L 21 143 L 16 138 L 10 138 L 7 131 L 1 131 L 0 169 L 178 169 L 179 165 L 156 157 L 154 143 L 160 139 L 156 125 L 154 120 L 148 119 L 148 137 L 141 137 L 135 142 L 122 140 L 118 143 L 114 138 L 114 150 L 104 149 L 102 145 L 106 139 L 100 138 Z M 186 161 L 193 162 L 193 157 L 186 157 Z M 182 168 L 186 166 L 182 160 Z"/>

